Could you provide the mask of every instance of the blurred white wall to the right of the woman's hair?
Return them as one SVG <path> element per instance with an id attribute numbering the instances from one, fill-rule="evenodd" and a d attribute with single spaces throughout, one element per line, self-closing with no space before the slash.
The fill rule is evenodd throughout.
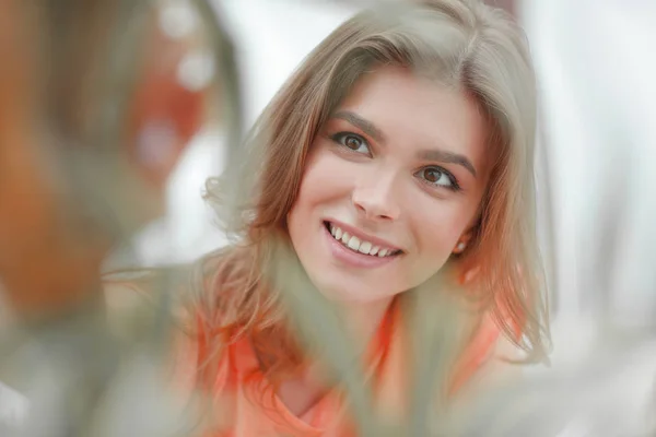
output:
<path id="1" fill-rule="evenodd" d="M 555 350 L 656 310 L 656 2 L 525 0 L 554 198 Z M 579 351 L 582 352 L 582 351 Z"/>

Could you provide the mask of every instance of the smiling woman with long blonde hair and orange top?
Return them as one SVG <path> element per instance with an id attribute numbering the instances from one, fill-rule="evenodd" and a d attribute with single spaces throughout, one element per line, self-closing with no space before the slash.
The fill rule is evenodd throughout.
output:
<path id="1" fill-rule="evenodd" d="M 234 213 L 222 218 L 235 243 L 198 265 L 201 298 L 179 356 L 222 399 L 227 435 L 353 429 L 291 328 L 284 274 L 268 274 L 280 273 L 279 250 L 309 280 L 302 292 L 316 288 L 365 345 L 383 403 L 399 400 L 407 377 L 402 300 L 436 276 L 478 303 L 452 394 L 489 367 L 502 338 L 543 355 L 535 122 L 525 40 L 482 3 L 365 11 L 305 59 L 253 129 L 238 181 L 208 182 L 208 199 Z M 235 187 L 247 200 L 236 212 L 225 209 Z"/>

